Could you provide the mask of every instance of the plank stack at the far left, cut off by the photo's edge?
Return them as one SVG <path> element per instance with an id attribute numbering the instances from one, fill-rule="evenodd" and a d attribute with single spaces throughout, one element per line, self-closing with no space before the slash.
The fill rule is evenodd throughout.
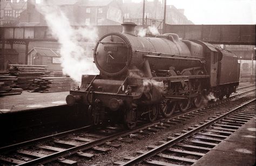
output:
<path id="1" fill-rule="evenodd" d="M 0 72 L 0 96 L 21 94 L 22 88 L 14 88 L 16 81 L 16 76 L 11 76 L 8 72 Z"/>

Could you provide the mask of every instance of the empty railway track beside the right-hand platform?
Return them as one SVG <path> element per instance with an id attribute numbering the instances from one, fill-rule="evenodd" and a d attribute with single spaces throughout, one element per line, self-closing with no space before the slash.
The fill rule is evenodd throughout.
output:
<path id="1" fill-rule="evenodd" d="M 168 137 L 161 141 L 162 144 L 159 146 L 148 146 L 149 151 L 138 151 L 140 155 L 127 156 L 124 161 L 118 161 L 116 164 L 192 165 L 255 117 L 255 108 L 255 99 L 241 103 L 201 125 L 190 127 L 184 130 L 184 133 L 178 133 L 177 137 Z M 125 160 L 128 161 L 125 162 Z"/>

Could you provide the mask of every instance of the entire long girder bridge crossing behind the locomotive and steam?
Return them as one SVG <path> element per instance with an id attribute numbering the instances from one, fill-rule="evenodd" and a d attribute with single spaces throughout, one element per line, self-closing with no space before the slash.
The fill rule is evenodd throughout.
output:
<path id="1" fill-rule="evenodd" d="M 122 32 L 121 25 L 99 25 L 96 27 L 98 36 L 110 31 Z M 163 32 L 177 33 L 181 38 L 201 40 L 212 44 L 255 45 L 255 25 L 165 24 Z M 28 63 L 28 45 L 31 41 L 57 41 L 57 39 L 51 35 L 48 26 L 0 27 L 2 55 L 4 55 L 5 44 L 10 44 L 11 48 L 13 44 L 25 44 L 25 62 Z M 5 56 L 3 56 L 3 61 L 4 58 Z"/>

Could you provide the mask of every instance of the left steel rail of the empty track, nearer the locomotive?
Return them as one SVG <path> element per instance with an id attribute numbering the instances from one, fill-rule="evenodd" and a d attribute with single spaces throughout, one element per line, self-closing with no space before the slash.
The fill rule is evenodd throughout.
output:
<path id="1" fill-rule="evenodd" d="M 194 129 L 192 129 L 192 130 L 190 130 L 190 131 L 188 131 L 188 132 L 186 132 L 186 133 L 184 133 L 184 134 L 182 134 L 182 135 L 180 135 L 180 136 L 174 138 L 173 140 L 170 140 L 170 141 L 168 141 L 168 142 L 166 142 L 166 143 L 164 143 L 164 144 L 161 144 L 159 147 L 154 148 L 154 149 L 148 151 L 148 152 L 145 153 L 145 154 L 139 155 L 139 156 L 133 158 L 132 160 L 130 160 L 130 161 L 124 163 L 124 164 L 121 164 L 121 165 L 132 165 L 132 164 L 139 163 L 139 162 L 145 160 L 146 158 L 153 157 L 153 156 L 156 155 L 157 153 L 160 153 L 161 151 L 165 150 L 166 147 L 171 147 L 171 146 L 173 146 L 174 144 L 176 144 L 177 142 L 179 142 L 179 141 L 185 139 L 186 137 L 198 133 L 200 130 L 202 130 L 202 129 L 208 127 L 208 126 L 211 126 L 214 122 L 217 122 L 217 121 L 223 119 L 223 118 L 226 117 L 227 115 L 233 113 L 235 110 L 237 110 L 237 109 L 239 109 L 239 108 L 241 108 L 241 107 L 244 107 L 244 106 L 248 105 L 248 103 L 251 103 L 251 102 L 253 102 L 253 101 L 255 101 L 255 100 L 256 100 L 256 99 L 252 99 L 252 100 L 250 100 L 250 101 L 244 103 L 243 105 L 238 106 L 237 108 L 234 108 L 234 109 L 230 110 L 229 112 L 227 112 L 227 113 L 225 113 L 225 114 L 223 114 L 223 115 L 220 115 L 219 117 L 216 117 L 215 119 L 213 119 L 213 120 L 211 120 L 211 121 L 205 122 L 203 125 L 200 125 L 200 126 L 194 128 Z"/>

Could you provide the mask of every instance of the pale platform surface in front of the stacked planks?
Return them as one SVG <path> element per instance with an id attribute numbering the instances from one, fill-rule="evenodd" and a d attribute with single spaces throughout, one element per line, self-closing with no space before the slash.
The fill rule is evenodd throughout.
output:
<path id="1" fill-rule="evenodd" d="M 3 96 L 0 98 L 0 114 L 19 112 L 31 108 L 66 105 L 69 92 L 32 93 L 23 91 L 20 95 Z"/>

